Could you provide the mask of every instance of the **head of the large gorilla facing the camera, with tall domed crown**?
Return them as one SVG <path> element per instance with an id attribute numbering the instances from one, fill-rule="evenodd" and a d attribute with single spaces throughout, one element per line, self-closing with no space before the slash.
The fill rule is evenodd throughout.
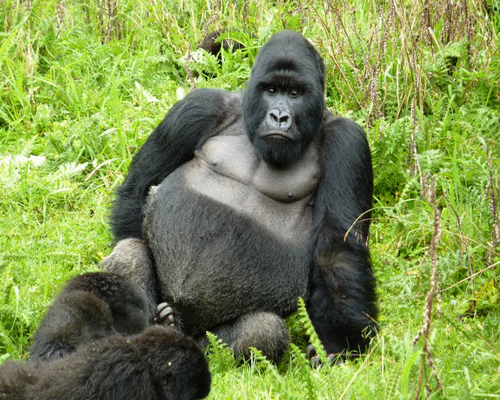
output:
<path id="1" fill-rule="evenodd" d="M 319 131 L 324 65 L 299 33 L 283 31 L 261 49 L 243 95 L 250 141 L 272 165 L 297 160 Z"/>

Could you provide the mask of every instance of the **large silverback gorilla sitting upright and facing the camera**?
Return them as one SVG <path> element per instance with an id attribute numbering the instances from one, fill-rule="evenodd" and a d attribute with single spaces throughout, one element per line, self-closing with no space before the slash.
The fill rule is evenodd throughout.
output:
<path id="1" fill-rule="evenodd" d="M 278 33 L 242 93 L 190 93 L 134 157 L 104 268 L 164 302 L 166 324 L 278 360 L 303 296 L 327 352 L 364 349 L 371 156 L 362 128 L 326 110 L 324 76 L 302 35 Z"/>

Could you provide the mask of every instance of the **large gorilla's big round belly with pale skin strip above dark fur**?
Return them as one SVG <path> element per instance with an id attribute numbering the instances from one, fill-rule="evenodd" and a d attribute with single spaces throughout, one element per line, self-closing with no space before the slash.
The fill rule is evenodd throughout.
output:
<path id="1" fill-rule="evenodd" d="M 300 200 L 280 202 L 197 157 L 153 190 L 144 235 L 161 296 L 189 315 L 188 332 L 296 308 L 307 290 L 312 228 L 312 193 L 298 189 Z"/>

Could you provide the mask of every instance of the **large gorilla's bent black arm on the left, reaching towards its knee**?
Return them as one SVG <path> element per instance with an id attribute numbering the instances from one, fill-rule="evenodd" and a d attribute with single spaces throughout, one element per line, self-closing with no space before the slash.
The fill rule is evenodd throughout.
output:
<path id="1" fill-rule="evenodd" d="M 111 213 L 116 242 L 142 238 L 142 211 L 149 189 L 189 161 L 208 136 L 218 132 L 229 105 L 227 92 L 198 89 L 176 103 L 134 156 L 118 188 Z"/>

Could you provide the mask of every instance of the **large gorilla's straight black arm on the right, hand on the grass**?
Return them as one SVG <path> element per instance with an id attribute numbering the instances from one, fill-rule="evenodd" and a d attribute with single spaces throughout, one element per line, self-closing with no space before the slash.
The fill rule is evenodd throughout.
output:
<path id="1" fill-rule="evenodd" d="M 363 330 L 375 325 L 377 314 L 366 244 L 373 192 L 371 155 L 363 129 L 353 121 L 329 119 L 323 129 L 308 309 L 328 353 L 363 350 Z"/>

